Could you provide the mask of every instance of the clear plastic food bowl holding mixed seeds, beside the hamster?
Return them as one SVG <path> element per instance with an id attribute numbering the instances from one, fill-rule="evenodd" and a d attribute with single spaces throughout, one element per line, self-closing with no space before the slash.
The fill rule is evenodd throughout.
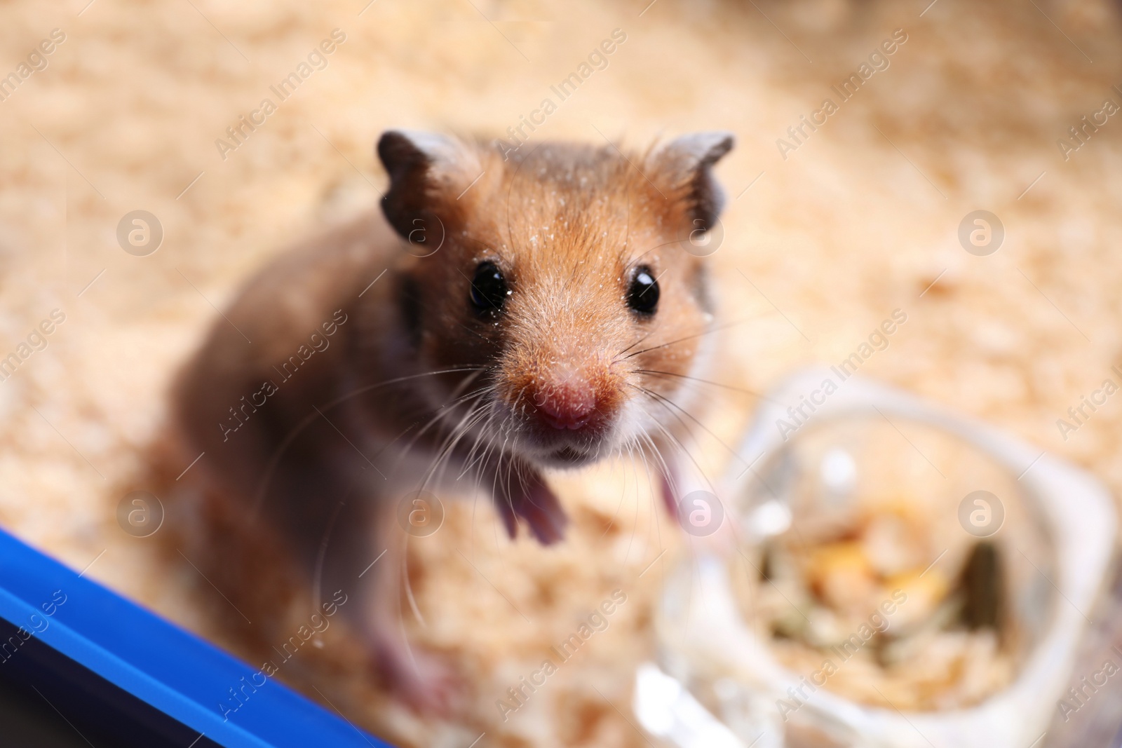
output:
<path id="1" fill-rule="evenodd" d="M 738 454 L 719 487 L 737 542 L 669 580 L 641 721 L 683 746 L 718 729 L 706 713 L 754 748 L 1038 740 L 1114 542 L 1101 483 L 834 371 L 771 394 Z M 670 680 L 679 707 L 655 708 Z"/>

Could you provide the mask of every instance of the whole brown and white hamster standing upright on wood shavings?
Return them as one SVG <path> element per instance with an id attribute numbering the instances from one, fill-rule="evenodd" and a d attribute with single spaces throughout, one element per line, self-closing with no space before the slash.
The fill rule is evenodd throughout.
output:
<path id="1" fill-rule="evenodd" d="M 714 227 L 725 132 L 645 153 L 524 153 L 387 131 L 380 214 L 303 241 L 248 281 L 180 372 L 173 418 L 210 563 L 233 604 L 280 604 L 255 578 L 293 563 L 421 709 L 454 691 L 397 620 L 402 504 L 488 496 L 543 544 L 567 524 L 546 474 L 646 461 L 673 507 L 690 377 L 714 301 L 689 239 Z M 208 561 L 200 561 L 200 557 Z M 232 558 L 232 560 L 231 560 Z M 277 563 L 280 563 L 277 561 Z M 239 608 L 241 610 L 241 608 Z"/>

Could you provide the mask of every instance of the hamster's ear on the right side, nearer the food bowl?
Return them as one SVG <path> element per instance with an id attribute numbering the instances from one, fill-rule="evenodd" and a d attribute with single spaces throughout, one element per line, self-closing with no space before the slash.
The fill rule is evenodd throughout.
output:
<path id="1" fill-rule="evenodd" d="M 732 132 L 693 132 L 671 140 L 653 154 L 655 169 L 670 192 L 684 203 L 691 227 L 708 231 L 725 206 L 725 193 L 712 177 L 712 165 L 733 149 Z"/>

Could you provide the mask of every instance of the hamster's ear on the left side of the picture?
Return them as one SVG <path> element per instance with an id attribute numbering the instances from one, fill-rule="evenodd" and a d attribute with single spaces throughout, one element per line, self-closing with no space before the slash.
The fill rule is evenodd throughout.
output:
<path id="1" fill-rule="evenodd" d="M 378 139 L 377 151 L 389 174 L 381 211 L 397 233 L 415 239 L 427 233 L 419 234 L 419 227 L 430 228 L 433 219 L 442 224 L 454 221 L 457 186 L 466 169 L 478 161 L 459 140 L 434 132 L 387 130 Z M 442 233 L 438 230 L 434 236 Z"/>

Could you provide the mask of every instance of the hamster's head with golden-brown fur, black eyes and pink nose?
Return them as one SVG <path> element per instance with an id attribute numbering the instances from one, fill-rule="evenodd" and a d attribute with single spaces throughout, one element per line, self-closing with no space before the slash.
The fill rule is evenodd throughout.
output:
<path id="1" fill-rule="evenodd" d="M 447 428 L 553 468 L 680 433 L 712 330 L 711 168 L 732 147 L 725 132 L 645 153 L 383 135 L 402 330 L 419 370 L 465 371 L 425 378 Z"/>

